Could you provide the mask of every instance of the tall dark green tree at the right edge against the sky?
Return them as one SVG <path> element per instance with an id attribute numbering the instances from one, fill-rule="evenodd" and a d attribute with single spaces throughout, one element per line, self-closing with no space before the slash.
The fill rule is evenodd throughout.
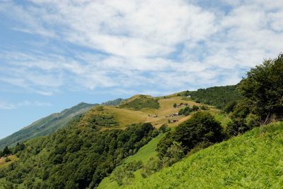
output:
<path id="1" fill-rule="evenodd" d="M 239 90 L 250 102 L 250 111 L 259 116 L 261 123 L 283 116 L 283 54 L 252 68 L 241 80 Z"/>

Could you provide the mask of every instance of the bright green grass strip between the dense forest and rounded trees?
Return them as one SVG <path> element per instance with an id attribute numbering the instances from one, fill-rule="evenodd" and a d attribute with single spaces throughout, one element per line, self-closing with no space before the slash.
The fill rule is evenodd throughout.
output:
<path id="1" fill-rule="evenodd" d="M 146 161 L 149 161 L 151 157 L 155 157 L 157 155 L 156 147 L 161 140 L 163 135 L 158 135 L 156 138 L 152 139 L 149 143 L 144 145 L 144 147 L 141 147 L 139 152 L 137 154 L 134 154 L 127 159 L 125 159 L 124 164 L 128 164 L 129 162 L 132 161 L 142 161 L 143 163 L 146 163 Z M 138 173 L 136 173 L 137 176 Z M 112 188 L 119 188 L 119 185 L 117 184 L 116 181 L 112 180 L 112 175 L 106 177 L 101 181 L 100 185 L 98 186 L 98 189 L 112 189 Z"/>

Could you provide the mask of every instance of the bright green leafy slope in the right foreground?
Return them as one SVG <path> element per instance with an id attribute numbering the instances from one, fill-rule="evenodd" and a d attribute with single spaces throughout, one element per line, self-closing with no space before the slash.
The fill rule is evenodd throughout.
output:
<path id="1" fill-rule="evenodd" d="M 128 188 L 282 188 L 283 123 L 201 150 Z"/>

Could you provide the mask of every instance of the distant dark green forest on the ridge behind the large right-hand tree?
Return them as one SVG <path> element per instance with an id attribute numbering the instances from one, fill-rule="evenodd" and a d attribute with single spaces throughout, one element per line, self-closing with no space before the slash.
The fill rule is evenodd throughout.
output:
<path id="1" fill-rule="evenodd" d="M 224 87 L 209 87 L 207 89 L 199 89 L 197 91 L 180 92 L 181 96 L 190 95 L 197 103 L 216 106 L 224 109 L 229 102 L 238 101 L 243 97 L 238 92 L 236 85 L 228 85 Z"/>

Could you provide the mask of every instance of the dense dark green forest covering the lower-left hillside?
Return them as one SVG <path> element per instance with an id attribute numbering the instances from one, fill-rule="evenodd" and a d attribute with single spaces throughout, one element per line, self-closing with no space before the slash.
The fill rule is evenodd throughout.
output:
<path id="1" fill-rule="evenodd" d="M 19 160 L 4 171 L 6 181 L 25 188 L 94 188 L 156 135 L 150 123 L 102 132 L 81 125 L 81 120 L 25 143 Z M 133 167 L 127 169 L 137 168 Z"/>

